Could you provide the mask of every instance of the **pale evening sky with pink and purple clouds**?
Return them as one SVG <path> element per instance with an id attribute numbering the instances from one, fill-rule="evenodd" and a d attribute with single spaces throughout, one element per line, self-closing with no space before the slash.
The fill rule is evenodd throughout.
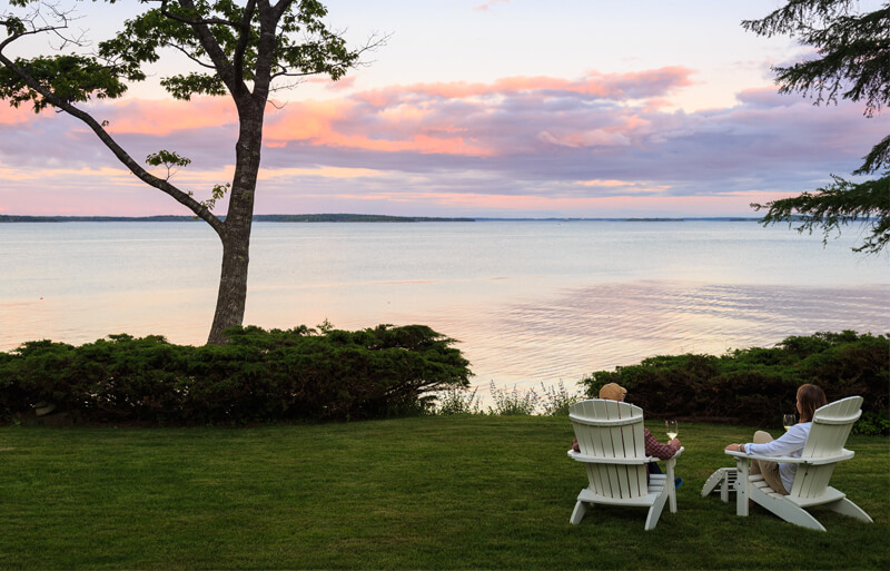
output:
<path id="1" fill-rule="evenodd" d="M 771 66 L 808 48 L 740 22 L 782 3 L 329 0 L 327 21 L 350 45 L 387 40 L 337 82 L 274 93 L 255 211 L 756 216 L 750 203 L 849 175 L 890 128 L 857 104 L 778 93 Z M 139 9 L 83 3 L 77 27 L 102 39 Z M 169 56 L 125 98 L 82 107 L 137 160 L 190 158 L 171 183 L 208 198 L 233 175 L 235 109 L 169 98 L 158 79 L 184 66 Z M 0 214 L 190 213 L 77 119 L 0 104 Z"/>

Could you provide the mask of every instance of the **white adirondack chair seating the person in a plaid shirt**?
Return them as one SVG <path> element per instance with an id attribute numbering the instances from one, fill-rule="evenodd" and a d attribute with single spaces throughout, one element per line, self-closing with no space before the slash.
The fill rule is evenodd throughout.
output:
<path id="1" fill-rule="evenodd" d="M 646 483 L 646 464 L 657 459 L 645 454 L 642 408 L 593 398 L 573 404 L 568 412 L 581 449 L 568 455 L 584 464 L 590 482 L 577 495 L 572 524 L 581 523 L 589 506 L 597 503 L 649 508 L 646 530 L 659 523 L 665 501 L 676 513 L 674 464 L 683 449 L 666 461 L 666 474 L 653 474 Z"/>

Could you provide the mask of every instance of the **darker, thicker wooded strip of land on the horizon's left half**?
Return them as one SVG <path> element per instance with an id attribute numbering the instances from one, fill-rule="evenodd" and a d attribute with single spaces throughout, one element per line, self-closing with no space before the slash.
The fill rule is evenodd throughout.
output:
<path id="1" fill-rule="evenodd" d="M 225 218 L 221 216 L 220 218 Z M 62 221 L 196 221 L 194 216 L 14 216 L 0 215 L 0 223 Z M 385 216 L 377 214 L 258 214 L 254 221 L 476 221 L 474 218 L 436 218 L 431 216 Z"/>

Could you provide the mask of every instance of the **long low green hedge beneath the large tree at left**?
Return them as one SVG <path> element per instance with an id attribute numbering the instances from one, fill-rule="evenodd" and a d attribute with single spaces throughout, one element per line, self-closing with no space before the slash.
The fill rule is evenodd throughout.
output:
<path id="1" fill-rule="evenodd" d="M 0 420 L 38 407 L 87 423 L 372 419 L 421 410 L 471 375 L 454 339 L 423 325 L 227 333 L 227 345 L 201 347 L 129 335 L 26 343 L 0 353 Z"/>

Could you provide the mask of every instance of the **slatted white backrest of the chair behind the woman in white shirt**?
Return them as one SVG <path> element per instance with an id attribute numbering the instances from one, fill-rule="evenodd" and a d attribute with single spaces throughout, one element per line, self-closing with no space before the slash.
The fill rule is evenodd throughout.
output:
<path id="1" fill-rule="evenodd" d="M 810 434 L 801 452 L 802 459 L 830 457 L 841 454 L 850 430 L 862 414 L 862 397 L 848 396 L 820 406 L 813 413 Z M 824 493 L 837 463 L 801 465 L 794 475 L 791 495 L 818 498 Z"/>

